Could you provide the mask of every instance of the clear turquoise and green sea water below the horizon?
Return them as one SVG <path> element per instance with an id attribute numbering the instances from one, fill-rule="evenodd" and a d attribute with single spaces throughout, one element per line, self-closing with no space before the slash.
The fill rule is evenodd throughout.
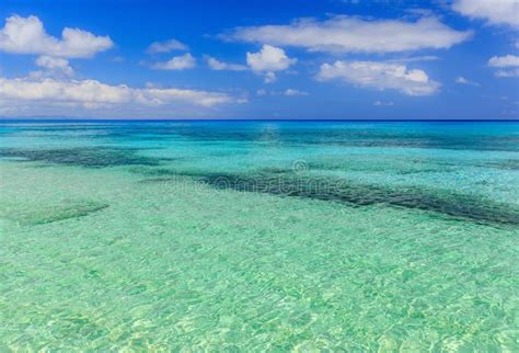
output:
<path id="1" fill-rule="evenodd" d="M 0 351 L 519 351 L 519 123 L 1 123 Z"/>

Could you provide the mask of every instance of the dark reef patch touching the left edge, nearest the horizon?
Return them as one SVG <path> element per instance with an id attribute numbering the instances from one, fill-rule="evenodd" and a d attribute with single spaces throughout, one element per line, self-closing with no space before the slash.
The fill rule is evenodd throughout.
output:
<path id="1" fill-rule="evenodd" d="M 0 158 L 21 158 L 22 161 L 38 161 L 85 168 L 116 166 L 159 166 L 161 159 L 137 155 L 129 148 L 60 148 L 60 149 L 0 149 Z"/>

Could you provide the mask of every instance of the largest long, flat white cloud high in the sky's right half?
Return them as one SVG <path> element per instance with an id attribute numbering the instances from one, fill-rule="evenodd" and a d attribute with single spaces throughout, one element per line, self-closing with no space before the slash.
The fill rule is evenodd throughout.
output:
<path id="1" fill-rule="evenodd" d="M 327 21 L 303 19 L 288 25 L 238 27 L 223 38 L 314 52 L 396 53 L 449 48 L 471 35 L 472 32 L 452 30 L 434 16 L 406 22 L 337 15 Z"/>

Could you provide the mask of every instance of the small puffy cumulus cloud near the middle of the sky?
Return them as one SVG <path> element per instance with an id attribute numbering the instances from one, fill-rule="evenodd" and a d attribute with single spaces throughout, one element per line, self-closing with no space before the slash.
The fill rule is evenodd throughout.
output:
<path id="1" fill-rule="evenodd" d="M 296 64 L 297 59 L 289 58 L 285 50 L 264 44 L 257 53 L 246 54 L 246 64 L 256 72 L 265 72 L 265 83 L 276 80 L 275 71 L 282 71 Z"/>

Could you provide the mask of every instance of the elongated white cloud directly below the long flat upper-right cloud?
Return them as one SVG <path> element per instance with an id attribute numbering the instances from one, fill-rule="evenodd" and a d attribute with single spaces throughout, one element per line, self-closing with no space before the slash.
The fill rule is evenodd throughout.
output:
<path id="1" fill-rule="evenodd" d="M 438 92 L 440 83 L 423 70 L 408 70 L 405 65 L 377 61 L 341 61 L 323 64 L 318 79 L 339 79 L 360 87 L 379 90 L 394 89 L 407 95 L 429 95 Z"/>

